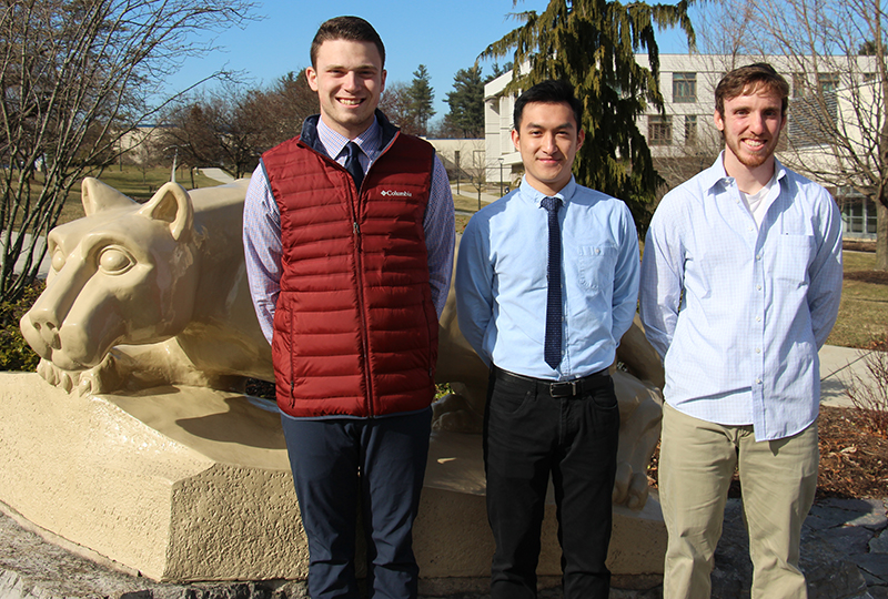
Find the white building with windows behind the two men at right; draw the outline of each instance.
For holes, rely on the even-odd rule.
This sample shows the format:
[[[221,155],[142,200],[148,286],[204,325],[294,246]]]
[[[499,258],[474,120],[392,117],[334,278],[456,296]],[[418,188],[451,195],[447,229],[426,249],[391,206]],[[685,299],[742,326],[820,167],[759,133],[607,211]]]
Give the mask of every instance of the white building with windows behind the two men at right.
[[[715,87],[727,71],[758,60],[761,59],[743,55],[660,54],[664,112],[650,108],[637,123],[655,160],[664,163],[669,159],[693,159],[694,169],[708,166],[722,148],[720,133],[713,122]],[[821,57],[817,69],[809,60],[795,63],[788,57],[766,60],[787,78],[791,88],[790,118],[778,152],[784,162],[818,164],[823,172],[835,169],[831,165],[838,159],[825,140],[818,140],[823,134],[818,135],[817,126],[813,125],[810,115],[818,111],[826,111],[834,122],[842,123],[850,131],[846,135],[859,139],[861,146],[871,143],[867,140],[868,132],[879,131],[884,111],[874,108],[869,111],[872,122],[860,123],[857,115],[861,111],[855,109],[861,98],[866,102],[867,93],[861,93],[861,88],[874,85],[875,59]],[[647,54],[637,54],[636,61],[649,68]],[[503,94],[511,80],[509,71],[484,87],[487,181],[500,181],[502,169],[506,184],[516,182],[524,170],[511,139],[514,97]],[[876,104],[875,100],[870,103]],[[826,181],[821,182],[829,187]],[[876,209],[871,201],[850,187],[830,191],[842,206],[846,235],[875,238]]]

